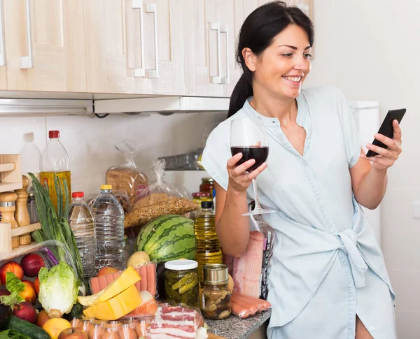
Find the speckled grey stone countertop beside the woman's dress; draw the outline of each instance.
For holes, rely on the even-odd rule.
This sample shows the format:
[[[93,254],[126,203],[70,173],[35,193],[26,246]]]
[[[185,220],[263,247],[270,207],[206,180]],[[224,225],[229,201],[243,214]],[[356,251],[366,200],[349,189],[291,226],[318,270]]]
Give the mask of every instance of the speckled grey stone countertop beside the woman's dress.
[[[208,332],[214,333],[227,339],[246,339],[252,333],[265,323],[270,317],[271,310],[267,310],[260,314],[253,315],[246,319],[241,319],[235,315],[231,315],[224,320],[209,320],[206,319],[206,324],[209,326]]]

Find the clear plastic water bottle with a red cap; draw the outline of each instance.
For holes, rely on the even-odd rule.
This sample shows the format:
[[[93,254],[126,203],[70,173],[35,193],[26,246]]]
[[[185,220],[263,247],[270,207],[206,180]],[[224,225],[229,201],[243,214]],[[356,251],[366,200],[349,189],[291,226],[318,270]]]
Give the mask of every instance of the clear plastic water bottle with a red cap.
[[[96,234],[92,211],[83,200],[83,192],[71,194],[69,225],[76,238],[76,244],[82,259],[83,277],[88,280],[95,275],[94,258],[96,254]]]

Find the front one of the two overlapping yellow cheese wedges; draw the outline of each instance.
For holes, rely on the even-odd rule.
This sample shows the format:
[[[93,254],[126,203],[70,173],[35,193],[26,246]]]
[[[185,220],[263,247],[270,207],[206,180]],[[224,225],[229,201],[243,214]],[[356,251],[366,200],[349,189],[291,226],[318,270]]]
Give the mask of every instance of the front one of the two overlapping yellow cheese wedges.
[[[104,303],[91,306],[84,310],[83,313],[88,318],[116,320],[120,317],[124,317],[140,304],[141,296],[133,284],[117,296],[114,296]]]

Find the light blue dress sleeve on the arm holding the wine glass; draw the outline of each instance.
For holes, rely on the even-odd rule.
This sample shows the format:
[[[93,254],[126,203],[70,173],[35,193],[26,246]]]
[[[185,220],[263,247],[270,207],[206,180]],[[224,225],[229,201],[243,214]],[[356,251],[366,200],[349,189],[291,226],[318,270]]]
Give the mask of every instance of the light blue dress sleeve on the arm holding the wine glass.
[[[221,185],[228,190],[229,175],[226,165],[232,157],[230,153],[230,131],[226,130],[226,123],[222,122],[207,138],[206,147],[202,155],[202,166]]]

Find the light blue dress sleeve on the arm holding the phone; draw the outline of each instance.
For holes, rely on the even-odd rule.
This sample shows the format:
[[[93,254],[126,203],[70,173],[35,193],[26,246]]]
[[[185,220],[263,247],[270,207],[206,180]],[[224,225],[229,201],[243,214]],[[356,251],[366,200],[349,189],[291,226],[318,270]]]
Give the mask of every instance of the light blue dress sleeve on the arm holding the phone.
[[[342,94],[342,92],[340,92],[338,89],[337,110],[339,114],[339,120],[342,125],[347,163],[349,164],[349,168],[351,168],[356,165],[358,159],[360,158],[361,145],[351,106],[344,97],[344,94]]]

